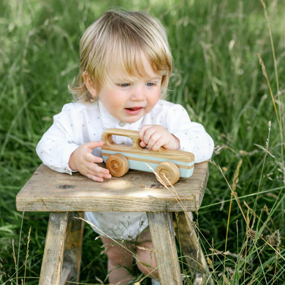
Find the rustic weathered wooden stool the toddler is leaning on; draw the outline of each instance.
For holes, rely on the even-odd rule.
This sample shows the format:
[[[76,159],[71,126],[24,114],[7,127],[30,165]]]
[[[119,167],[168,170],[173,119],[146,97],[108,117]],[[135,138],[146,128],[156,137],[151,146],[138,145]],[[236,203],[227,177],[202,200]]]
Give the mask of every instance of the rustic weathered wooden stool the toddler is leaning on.
[[[79,172],[71,176],[41,164],[16,197],[18,211],[50,212],[39,284],[63,285],[75,276],[79,282],[84,222],[73,217],[83,217],[84,211],[145,211],[153,248],[164,253],[154,253],[161,285],[182,285],[174,229],[183,255],[191,257],[186,257],[190,270],[200,272],[196,282],[203,282],[207,262],[202,251],[197,262],[197,235],[184,211],[193,217],[191,211],[199,209],[208,176],[208,162],[195,164],[193,175],[174,185],[178,198],[150,172],[130,170],[99,183]],[[173,218],[172,212],[178,214]]]

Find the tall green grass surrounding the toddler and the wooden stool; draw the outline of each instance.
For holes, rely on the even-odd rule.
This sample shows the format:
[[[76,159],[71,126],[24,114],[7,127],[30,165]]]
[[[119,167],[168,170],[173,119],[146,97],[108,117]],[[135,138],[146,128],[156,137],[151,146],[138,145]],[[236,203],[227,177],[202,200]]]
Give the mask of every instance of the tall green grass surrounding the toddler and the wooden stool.
[[[18,258],[19,284],[21,278],[38,283],[48,213],[23,215],[15,197],[41,163],[35,148],[52,116],[70,101],[80,34],[114,5],[147,10],[162,21],[174,58],[169,100],[185,106],[215,142],[202,207],[194,214],[215,283],[284,284],[285,8],[276,0],[265,9],[260,1],[226,0],[0,2],[0,284],[15,274]],[[249,229],[258,233],[254,239]],[[266,243],[267,235],[275,245]],[[84,284],[107,275],[102,243],[94,239],[86,225]],[[133,274],[140,276],[136,267]]]

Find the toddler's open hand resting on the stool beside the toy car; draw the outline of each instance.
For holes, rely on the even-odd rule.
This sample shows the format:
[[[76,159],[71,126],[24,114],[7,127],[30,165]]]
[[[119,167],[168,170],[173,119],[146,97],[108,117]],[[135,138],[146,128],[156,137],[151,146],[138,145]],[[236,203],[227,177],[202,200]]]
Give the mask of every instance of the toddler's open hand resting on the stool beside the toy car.
[[[91,154],[93,148],[101,147],[103,144],[104,142],[91,141],[76,148],[76,150],[74,150],[70,155],[68,162],[69,167],[72,170],[78,170],[81,174],[94,181],[103,182],[103,177],[111,178],[112,176],[109,174],[108,169],[105,169],[95,163],[103,162],[103,158]]]

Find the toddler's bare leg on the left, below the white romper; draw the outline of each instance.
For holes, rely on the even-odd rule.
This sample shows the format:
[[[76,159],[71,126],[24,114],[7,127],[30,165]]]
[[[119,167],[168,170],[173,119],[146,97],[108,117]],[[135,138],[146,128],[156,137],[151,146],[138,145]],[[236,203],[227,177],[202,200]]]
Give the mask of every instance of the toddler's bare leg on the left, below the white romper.
[[[108,243],[115,243],[112,239],[109,239],[108,237],[101,237],[101,239],[104,245]],[[116,284],[120,282],[120,285],[128,285],[128,282],[133,278],[129,271],[124,267],[119,267],[117,269],[114,268],[122,265],[129,269],[132,269],[132,261],[134,258],[133,254],[118,244],[114,246],[105,245],[105,249],[108,256],[108,272],[112,270],[109,274],[109,283]]]

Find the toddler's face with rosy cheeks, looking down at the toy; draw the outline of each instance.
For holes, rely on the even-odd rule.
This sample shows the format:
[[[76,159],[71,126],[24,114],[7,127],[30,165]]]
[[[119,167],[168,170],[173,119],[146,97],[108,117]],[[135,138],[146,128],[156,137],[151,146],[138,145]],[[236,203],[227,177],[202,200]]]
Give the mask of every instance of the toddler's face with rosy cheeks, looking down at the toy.
[[[159,99],[162,77],[154,73],[145,57],[143,62],[149,78],[140,78],[136,82],[117,82],[115,80],[112,82],[113,91],[102,87],[97,94],[105,109],[120,121],[126,123],[138,121],[152,110]],[[139,109],[128,110],[128,108],[135,107]]]

